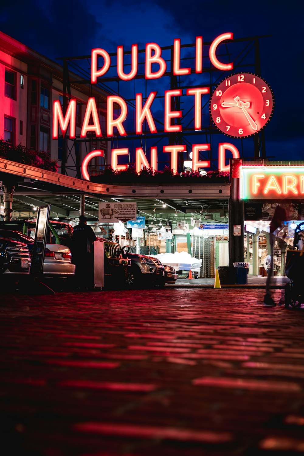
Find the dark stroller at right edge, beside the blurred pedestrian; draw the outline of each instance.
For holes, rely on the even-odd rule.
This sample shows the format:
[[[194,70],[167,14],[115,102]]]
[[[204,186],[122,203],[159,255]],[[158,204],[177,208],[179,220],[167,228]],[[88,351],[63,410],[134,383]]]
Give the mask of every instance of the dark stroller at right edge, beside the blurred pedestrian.
[[[285,275],[290,279],[290,283],[285,285],[286,308],[299,307],[304,302],[303,269],[304,222],[294,230],[294,250],[288,250],[286,255]]]

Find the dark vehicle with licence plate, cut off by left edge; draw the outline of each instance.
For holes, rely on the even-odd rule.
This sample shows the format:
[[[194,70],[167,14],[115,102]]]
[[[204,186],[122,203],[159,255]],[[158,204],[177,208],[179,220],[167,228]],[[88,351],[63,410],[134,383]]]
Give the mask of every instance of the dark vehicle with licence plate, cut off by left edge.
[[[10,288],[11,283],[28,277],[31,256],[27,245],[4,237],[0,238],[0,280]]]

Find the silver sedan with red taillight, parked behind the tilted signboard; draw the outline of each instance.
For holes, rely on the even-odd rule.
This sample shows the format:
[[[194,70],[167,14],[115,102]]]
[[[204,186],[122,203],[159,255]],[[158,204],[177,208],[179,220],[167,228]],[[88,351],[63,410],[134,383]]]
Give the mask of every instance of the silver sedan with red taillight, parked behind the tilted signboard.
[[[22,242],[27,245],[30,255],[34,248],[34,239],[19,231],[0,229],[2,238]],[[75,274],[75,264],[71,263],[70,249],[61,244],[46,244],[43,259],[42,275],[44,279],[68,280]]]

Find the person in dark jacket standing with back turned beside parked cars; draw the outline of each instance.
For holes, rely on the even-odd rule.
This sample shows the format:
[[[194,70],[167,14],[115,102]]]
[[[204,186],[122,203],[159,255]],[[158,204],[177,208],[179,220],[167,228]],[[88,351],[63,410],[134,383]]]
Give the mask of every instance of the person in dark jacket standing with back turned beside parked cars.
[[[79,224],[73,230],[72,263],[76,265],[76,288],[82,291],[94,288],[94,241],[93,229],[87,225],[87,218],[79,216]]]

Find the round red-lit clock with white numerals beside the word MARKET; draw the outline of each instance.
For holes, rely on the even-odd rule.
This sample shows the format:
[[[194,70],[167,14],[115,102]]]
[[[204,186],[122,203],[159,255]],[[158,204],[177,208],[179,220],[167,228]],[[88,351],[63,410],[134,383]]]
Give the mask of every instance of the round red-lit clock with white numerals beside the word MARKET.
[[[273,91],[252,73],[237,73],[224,79],[210,101],[216,127],[233,138],[255,135],[269,122],[274,109]]]

